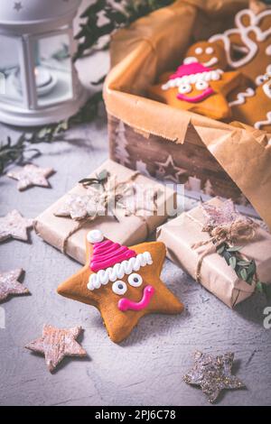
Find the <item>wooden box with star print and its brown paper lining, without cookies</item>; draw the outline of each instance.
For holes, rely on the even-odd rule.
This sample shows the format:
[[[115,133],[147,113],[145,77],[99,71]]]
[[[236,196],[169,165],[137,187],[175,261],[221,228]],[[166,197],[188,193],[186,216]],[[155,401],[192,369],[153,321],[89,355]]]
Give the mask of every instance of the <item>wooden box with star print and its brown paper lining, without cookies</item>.
[[[248,5],[179,0],[114,34],[104,86],[110,156],[207,194],[238,200],[242,192],[271,227],[270,134],[146,98],[147,88],[180,65],[192,42],[232,27],[235,14]]]

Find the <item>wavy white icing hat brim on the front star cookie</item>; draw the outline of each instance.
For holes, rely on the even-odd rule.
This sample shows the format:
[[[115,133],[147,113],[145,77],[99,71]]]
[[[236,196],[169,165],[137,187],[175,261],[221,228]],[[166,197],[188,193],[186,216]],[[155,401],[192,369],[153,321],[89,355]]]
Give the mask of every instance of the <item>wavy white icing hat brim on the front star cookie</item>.
[[[99,270],[89,276],[88,289],[99,289],[101,284],[107,284],[108,281],[122,279],[133,271],[139,271],[141,266],[151,265],[153,263],[152,255],[149,252],[138,253],[134,258],[122,263],[116,263],[113,267],[106,270]]]

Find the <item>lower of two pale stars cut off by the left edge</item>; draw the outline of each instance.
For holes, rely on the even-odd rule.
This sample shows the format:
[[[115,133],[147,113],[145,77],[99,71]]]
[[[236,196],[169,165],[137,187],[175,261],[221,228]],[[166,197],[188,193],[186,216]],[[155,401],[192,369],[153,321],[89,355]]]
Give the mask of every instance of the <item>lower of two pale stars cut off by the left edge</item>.
[[[18,281],[22,272],[22,268],[18,268],[13,271],[0,273],[0,302],[6,300],[11,295],[29,293],[29,290],[23,287],[23,284]]]

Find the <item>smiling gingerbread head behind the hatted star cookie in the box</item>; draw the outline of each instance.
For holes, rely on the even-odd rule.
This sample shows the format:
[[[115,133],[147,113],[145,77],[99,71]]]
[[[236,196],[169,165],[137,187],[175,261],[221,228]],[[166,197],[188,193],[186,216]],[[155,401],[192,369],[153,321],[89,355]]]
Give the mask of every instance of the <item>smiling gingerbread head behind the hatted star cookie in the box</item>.
[[[200,62],[203,66],[212,69],[225,70],[228,66],[226,52],[218,42],[198,41],[188,49],[183,63]]]

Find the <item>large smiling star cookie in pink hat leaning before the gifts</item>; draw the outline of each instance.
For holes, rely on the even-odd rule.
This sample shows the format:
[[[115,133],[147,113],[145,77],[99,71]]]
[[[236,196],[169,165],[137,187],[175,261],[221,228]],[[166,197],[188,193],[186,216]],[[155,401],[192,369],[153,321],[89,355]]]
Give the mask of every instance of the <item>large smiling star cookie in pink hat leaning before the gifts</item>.
[[[99,230],[92,230],[86,245],[85,266],[64,281],[58,293],[98,308],[113,342],[129,336],[146,314],[182,312],[182,303],[160,279],[165,257],[163,243],[128,248],[108,240]]]

